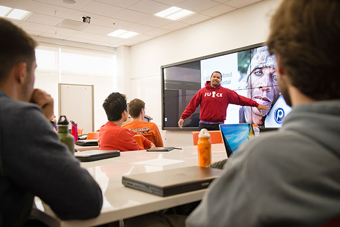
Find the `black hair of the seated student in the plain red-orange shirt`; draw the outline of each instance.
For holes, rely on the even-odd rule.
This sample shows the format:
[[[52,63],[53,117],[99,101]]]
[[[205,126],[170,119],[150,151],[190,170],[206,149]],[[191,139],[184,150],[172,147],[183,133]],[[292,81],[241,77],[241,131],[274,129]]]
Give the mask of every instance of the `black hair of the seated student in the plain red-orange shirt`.
[[[118,92],[111,93],[103,103],[103,108],[109,122],[121,120],[122,113],[127,107],[126,96]]]

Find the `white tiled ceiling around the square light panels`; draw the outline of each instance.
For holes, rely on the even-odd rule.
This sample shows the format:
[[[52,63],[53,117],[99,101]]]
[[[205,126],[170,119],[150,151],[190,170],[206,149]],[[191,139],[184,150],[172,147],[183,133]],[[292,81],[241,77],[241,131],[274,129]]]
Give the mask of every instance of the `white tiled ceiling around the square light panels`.
[[[135,45],[262,0],[75,1],[76,4],[68,5],[62,0],[0,0],[0,5],[32,12],[24,21],[11,19],[31,35],[118,47]],[[172,6],[195,14],[177,21],[153,16]],[[83,24],[83,16],[91,17],[91,23]],[[75,22],[73,29],[66,27],[67,22]],[[129,39],[107,36],[117,29],[140,34]]]

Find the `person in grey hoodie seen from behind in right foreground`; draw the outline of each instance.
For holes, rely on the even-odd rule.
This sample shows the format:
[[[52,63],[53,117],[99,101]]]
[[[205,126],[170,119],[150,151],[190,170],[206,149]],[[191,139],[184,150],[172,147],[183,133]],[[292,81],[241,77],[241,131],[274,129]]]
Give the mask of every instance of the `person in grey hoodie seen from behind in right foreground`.
[[[270,28],[293,109],[226,162],[189,227],[318,226],[340,216],[340,1],[285,0]]]

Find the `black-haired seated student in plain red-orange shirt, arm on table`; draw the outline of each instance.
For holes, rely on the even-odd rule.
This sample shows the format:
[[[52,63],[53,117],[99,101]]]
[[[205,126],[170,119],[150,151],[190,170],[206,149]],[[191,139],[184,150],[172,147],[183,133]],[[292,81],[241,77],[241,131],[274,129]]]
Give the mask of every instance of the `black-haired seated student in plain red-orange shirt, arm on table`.
[[[127,107],[125,95],[118,92],[111,93],[105,99],[103,108],[105,109],[108,122],[100,127],[100,150],[144,150],[133,139],[136,133],[121,127],[129,115],[129,107]],[[155,145],[144,136],[142,136],[142,141],[146,149],[155,147]]]

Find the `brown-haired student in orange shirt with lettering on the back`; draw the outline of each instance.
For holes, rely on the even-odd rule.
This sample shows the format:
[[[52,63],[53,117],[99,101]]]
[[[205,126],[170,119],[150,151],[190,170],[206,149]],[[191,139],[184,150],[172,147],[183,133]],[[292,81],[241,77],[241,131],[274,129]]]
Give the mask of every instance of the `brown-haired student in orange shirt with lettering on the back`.
[[[135,133],[146,136],[156,147],[163,146],[163,140],[160,136],[158,127],[153,122],[143,121],[145,116],[145,102],[135,98],[129,102],[129,113],[131,116],[131,122],[123,125],[123,128],[131,129]]]

